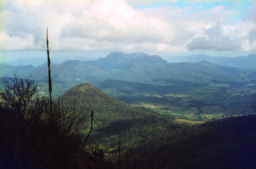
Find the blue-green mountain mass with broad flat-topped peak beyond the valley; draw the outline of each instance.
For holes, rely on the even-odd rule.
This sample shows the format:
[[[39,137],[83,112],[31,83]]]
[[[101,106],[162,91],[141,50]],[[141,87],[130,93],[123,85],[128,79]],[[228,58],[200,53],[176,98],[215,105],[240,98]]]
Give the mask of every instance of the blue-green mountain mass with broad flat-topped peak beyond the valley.
[[[47,64],[33,67],[0,65],[3,75],[32,74],[37,80],[48,79]],[[90,81],[96,79],[118,79],[149,84],[169,84],[170,81],[189,81],[207,83],[209,81],[244,81],[255,79],[251,69],[224,67],[208,61],[198,63],[169,63],[160,56],[146,53],[110,53],[99,60],[68,60],[61,65],[51,65],[52,78],[55,80]],[[255,72],[254,72],[255,73]]]

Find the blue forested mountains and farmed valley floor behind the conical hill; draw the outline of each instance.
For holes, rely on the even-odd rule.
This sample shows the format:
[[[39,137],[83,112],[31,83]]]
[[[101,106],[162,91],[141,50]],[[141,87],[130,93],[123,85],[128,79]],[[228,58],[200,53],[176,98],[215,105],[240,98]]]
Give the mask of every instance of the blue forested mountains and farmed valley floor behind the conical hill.
[[[12,77],[17,71],[21,76],[32,75],[43,92],[48,93],[47,64],[38,67],[1,64],[0,69],[1,76]],[[256,108],[253,69],[224,67],[205,60],[168,63],[145,53],[110,53],[99,60],[51,64],[51,76],[54,98],[76,85],[91,83],[122,102],[165,106],[159,112],[185,119],[209,120],[219,113],[250,114]],[[205,113],[207,116],[203,116]]]

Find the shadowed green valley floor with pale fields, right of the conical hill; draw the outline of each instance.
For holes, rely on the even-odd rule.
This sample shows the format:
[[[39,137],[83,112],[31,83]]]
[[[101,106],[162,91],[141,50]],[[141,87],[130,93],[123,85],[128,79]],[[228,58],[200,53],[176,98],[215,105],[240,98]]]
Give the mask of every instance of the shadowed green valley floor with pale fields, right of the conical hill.
[[[136,106],[155,105],[153,109],[158,113],[175,115],[177,118],[206,121],[225,116],[255,114],[253,81],[211,81],[208,84],[184,85],[178,82],[164,86],[106,80],[97,86],[122,102]]]

